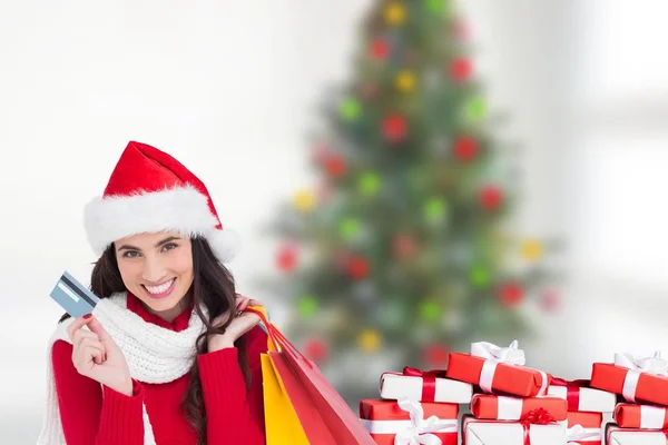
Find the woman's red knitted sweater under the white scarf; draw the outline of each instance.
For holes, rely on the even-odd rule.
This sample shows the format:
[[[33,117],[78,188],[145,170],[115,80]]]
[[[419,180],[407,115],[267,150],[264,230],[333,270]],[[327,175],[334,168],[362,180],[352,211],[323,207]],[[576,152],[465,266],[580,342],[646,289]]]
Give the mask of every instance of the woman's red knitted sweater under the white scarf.
[[[148,313],[129,293],[127,306],[146,322],[176,332],[188,327],[191,312],[185,310],[168,323]],[[252,375],[249,392],[246,392],[237,362],[237,348],[197,357],[208,421],[208,445],[265,444],[259,357],[267,349],[267,336],[259,326],[246,334],[246,345]],[[56,342],[52,353],[58,405],[68,445],[144,445],[143,404],[146,404],[157,444],[197,443],[195,431],[180,411],[190,373],[166,384],[134,380],[134,394],[126,396],[80,375],[72,364],[72,345],[69,343]]]

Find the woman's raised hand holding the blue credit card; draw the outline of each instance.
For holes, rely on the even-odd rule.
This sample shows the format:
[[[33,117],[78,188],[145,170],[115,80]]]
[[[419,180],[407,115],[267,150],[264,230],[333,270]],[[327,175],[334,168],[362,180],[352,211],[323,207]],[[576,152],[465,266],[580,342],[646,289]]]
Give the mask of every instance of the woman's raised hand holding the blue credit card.
[[[97,318],[90,314],[76,318],[67,334],[72,342],[72,363],[79,374],[118,393],[132,394],[132,378],[125,356]]]

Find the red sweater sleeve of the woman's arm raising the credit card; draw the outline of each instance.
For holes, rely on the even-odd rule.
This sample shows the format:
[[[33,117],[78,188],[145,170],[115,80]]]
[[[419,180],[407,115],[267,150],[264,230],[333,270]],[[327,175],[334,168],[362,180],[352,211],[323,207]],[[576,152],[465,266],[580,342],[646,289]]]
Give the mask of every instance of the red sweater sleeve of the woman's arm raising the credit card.
[[[134,380],[132,395],[126,396],[79,374],[71,357],[72,345],[53,344],[51,360],[67,444],[143,445],[143,385]]]

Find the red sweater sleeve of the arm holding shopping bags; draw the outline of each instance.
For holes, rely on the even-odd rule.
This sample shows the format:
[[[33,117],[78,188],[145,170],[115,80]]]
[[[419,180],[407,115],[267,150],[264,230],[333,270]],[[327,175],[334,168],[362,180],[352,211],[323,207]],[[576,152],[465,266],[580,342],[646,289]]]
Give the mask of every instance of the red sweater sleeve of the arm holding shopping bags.
[[[248,390],[238,364],[237,348],[225,348],[197,357],[209,445],[265,444],[261,353],[266,352],[266,334],[255,327],[246,335],[252,378]]]

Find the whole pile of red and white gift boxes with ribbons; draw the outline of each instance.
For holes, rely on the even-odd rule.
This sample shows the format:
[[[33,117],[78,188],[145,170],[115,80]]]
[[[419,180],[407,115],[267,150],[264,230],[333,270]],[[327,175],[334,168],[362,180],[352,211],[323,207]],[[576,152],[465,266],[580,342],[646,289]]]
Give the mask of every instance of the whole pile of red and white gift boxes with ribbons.
[[[667,374],[658,356],[617,354],[567,382],[524,366],[517,342],[481,342],[448,369],[384,373],[360,417],[381,445],[668,445]]]

